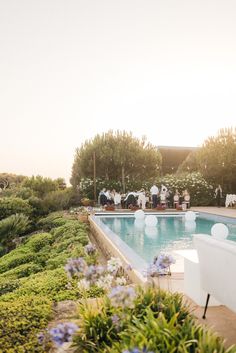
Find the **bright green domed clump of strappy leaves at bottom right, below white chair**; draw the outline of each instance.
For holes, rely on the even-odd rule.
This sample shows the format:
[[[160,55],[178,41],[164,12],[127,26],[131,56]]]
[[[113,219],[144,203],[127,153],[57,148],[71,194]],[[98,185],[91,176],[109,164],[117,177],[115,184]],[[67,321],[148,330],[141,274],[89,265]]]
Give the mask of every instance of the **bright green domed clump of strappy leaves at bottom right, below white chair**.
[[[223,339],[196,324],[195,320],[187,317],[182,324],[178,322],[178,313],[168,320],[163,313],[158,317],[150,308],[146,312],[144,321],[137,318],[119,334],[119,342],[114,343],[109,353],[119,353],[134,347],[152,352],[207,352],[223,353],[235,352],[235,348],[226,350]]]

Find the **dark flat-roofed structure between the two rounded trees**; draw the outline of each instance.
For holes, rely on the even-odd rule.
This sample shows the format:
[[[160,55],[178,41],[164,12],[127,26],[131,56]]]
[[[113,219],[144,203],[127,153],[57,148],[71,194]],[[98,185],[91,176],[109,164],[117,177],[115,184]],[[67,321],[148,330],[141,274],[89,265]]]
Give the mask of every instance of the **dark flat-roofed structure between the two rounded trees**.
[[[173,174],[187,156],[198,147],[158,146],[162,155],[162,174]]]

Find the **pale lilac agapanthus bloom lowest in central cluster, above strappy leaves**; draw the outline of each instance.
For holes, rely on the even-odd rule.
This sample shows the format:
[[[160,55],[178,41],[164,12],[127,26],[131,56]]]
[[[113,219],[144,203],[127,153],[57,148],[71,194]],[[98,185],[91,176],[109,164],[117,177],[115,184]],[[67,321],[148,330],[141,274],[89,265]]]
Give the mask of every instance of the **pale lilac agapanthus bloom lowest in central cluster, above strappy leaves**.
[[[117,286],[112,288],[108,297],[111,304],[115,307],[133,307],[133,302],[136,297],[136,292],[132,287]]]

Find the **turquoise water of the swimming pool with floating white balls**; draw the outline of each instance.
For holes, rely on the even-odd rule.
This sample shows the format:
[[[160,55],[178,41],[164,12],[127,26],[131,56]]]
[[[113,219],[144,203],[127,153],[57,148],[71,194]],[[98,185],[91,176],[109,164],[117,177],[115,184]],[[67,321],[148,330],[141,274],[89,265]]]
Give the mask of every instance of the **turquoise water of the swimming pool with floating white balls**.
[[[211,234],[215,223],[224,223],[229,228],[227,239],[236,242],[236,222],[222,222],[197,217],[196,222],[185,222],[184,217],[158,216],[156,227],[148,228],[134,217],[101,217],[100,220],[116,233],[131,249],[147,263],[160,251],[172,252],[193,248],[193,234]]]

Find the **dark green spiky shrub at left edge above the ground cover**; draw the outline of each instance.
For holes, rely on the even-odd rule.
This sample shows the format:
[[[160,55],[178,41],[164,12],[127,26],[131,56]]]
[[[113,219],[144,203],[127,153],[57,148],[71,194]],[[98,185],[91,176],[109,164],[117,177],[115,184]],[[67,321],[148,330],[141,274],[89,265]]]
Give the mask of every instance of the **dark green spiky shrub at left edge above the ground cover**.
[[[23,214],[15,214],[0,221],[0,244],[6,251],[16,245],[16,239],[26,233],[29,228],[29,219]]]

